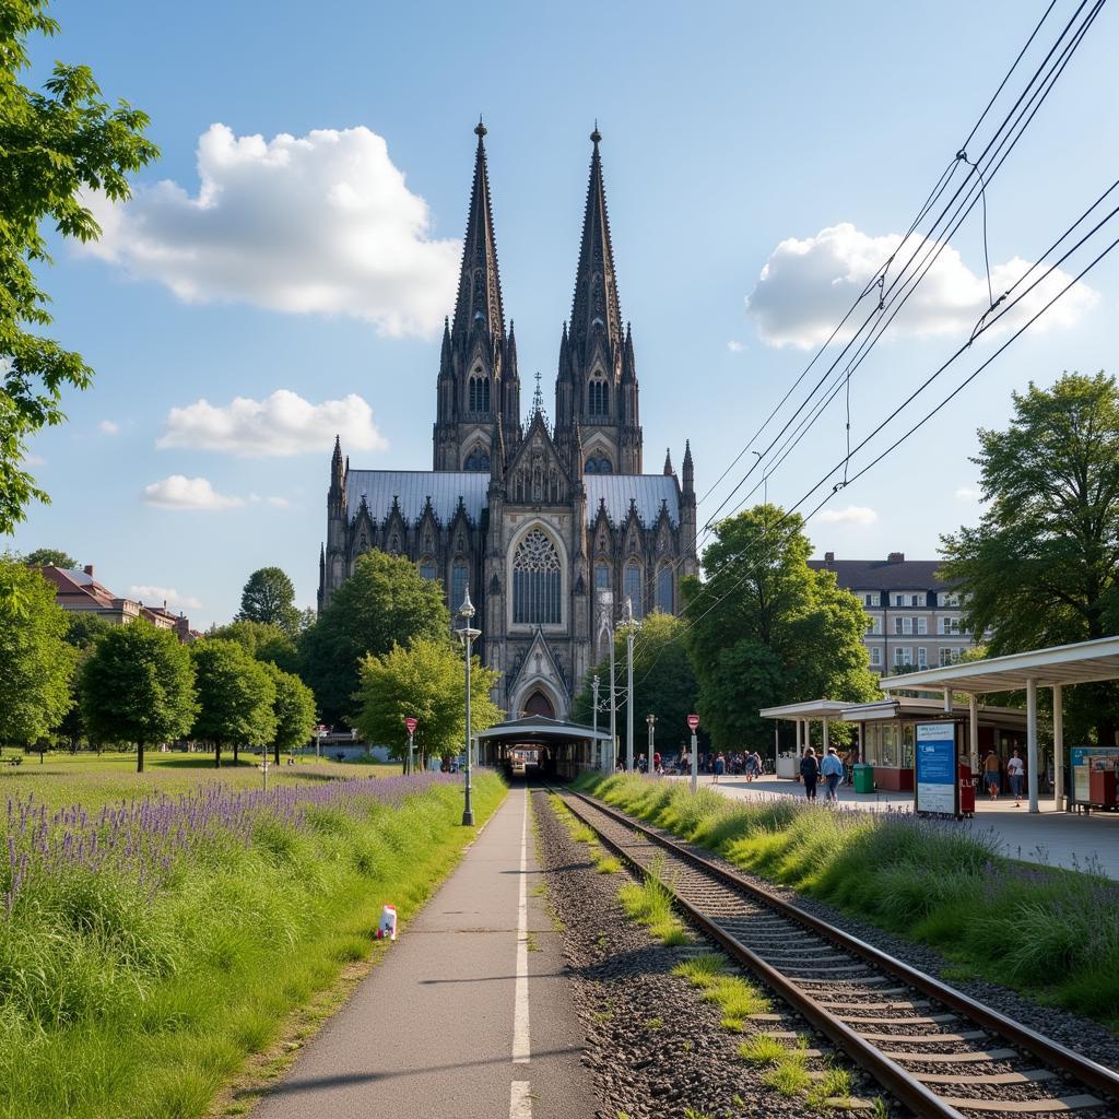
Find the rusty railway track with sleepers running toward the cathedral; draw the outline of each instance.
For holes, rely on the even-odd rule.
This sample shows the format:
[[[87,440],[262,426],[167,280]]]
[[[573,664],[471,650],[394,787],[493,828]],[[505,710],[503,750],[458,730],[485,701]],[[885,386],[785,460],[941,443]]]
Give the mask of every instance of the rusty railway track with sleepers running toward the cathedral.
[[[601,801],[552,790],[634,868],[916,1115],[1119,1117],[1119,1074]]]

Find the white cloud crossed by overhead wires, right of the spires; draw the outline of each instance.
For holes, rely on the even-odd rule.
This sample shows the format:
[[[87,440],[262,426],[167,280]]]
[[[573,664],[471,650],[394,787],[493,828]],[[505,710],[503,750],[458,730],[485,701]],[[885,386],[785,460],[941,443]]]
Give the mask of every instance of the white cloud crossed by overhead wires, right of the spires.
[[[746,314],[753,319],[762,340],[770,346],[802,349],[819,346],[877,275],[901,239],[897,234],[872,237],[849,222],[821,229],[814,237],[789,237],[773,250],[765,262],[761,278],[746,299]],[[894,263],[894,278],[908,260],[910,246],[915,247],[916,244],[918,241],[912,238],[906,243],[906,250]],[[996,264],[990,270],[995,298],[998,299],[1028,267],[1029,262],[1021,257]],[[890,279],[886,278],[887,285]],[[1071,279],[1069,273],[1055,270],[990,333],[1021,327]],[[873,310],[874,298],[872,292],[859,304],[847,327],[837,335],[839,341],[847,341],[854,335]],[[1031,330],[1072,327],[1098,301],[1098,292],[1084,283],[1076,283]],[[986,272],[972,272],[960,254],[948,245],[899,312],[885,337],[923,338],[953,333],[962,341],[988,305]]]

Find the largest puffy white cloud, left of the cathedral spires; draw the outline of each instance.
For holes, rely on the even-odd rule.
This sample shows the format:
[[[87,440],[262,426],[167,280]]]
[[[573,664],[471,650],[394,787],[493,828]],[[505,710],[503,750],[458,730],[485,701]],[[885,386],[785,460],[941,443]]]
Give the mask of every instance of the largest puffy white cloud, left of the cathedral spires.
[[[163,180],[123,205],[87,204],[103,235],[84,251],[186,302],[345,314],[383,335],[429,335],[454,301],[462,245],[433,239],[385,140],[366,128],[199,138],[196,195]]]

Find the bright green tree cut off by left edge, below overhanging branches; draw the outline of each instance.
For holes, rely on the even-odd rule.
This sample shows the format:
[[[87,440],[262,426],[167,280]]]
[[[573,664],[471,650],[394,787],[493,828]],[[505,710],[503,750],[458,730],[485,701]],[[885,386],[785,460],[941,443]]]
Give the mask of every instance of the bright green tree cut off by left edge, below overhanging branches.
[[[0,557],[0,743],[29,745],[63,721],[77,660],[66,630],[54,586]]]

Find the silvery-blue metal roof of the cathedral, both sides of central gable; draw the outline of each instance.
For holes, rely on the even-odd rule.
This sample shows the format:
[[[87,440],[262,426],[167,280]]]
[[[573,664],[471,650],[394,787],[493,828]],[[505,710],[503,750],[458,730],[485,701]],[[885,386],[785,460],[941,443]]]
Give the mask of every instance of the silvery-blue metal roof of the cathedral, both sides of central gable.
[[[354,516],[364,497],[373,517],[384,521],[396,498],[401,516],[415,524],[430,497],[435,516],[449,524],[461,497],[467,516],[478,524],[487,506],[489,483],[487,470],[350,470],[346,476],[346,504]],[[679,490],[670,476],[584,474],[583,486],[587,524],[594,523],[600,504],[605,502],[610,519],[620,525],[629,516],[631,500],[647,526],[660,516],[661,504],[668,508],[673,527],[680,523]]]

